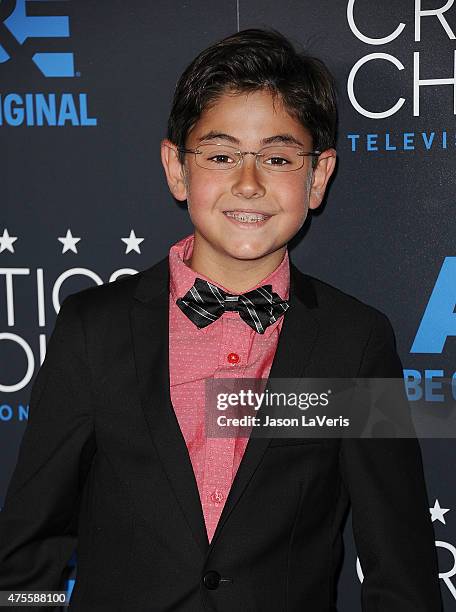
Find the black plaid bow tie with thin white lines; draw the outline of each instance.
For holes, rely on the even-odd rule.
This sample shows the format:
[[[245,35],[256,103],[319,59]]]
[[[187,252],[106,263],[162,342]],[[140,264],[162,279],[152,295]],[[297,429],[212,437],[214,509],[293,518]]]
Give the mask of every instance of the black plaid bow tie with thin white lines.
[[[264,334],[289,307],[286,300],[272,291],[272,285],[232,295],[202,278],[197,278],[176,304],[200,329],[216,321],[225,311],[237,310],[247,325],[259,334]]]

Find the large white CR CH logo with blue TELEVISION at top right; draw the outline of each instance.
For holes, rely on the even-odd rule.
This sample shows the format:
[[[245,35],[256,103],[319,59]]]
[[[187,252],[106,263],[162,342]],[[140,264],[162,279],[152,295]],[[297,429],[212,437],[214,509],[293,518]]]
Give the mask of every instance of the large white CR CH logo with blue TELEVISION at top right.
[[[408,10],[402,6],[405,4],[408,5]],[[359,49],[363,53],[348,74],[347,96],[359,115],[374,122],[371,124],[373,129],[369,132],[358,132],[355,128],[355,131],[346,134],[346,144],[354,154],[368,153],[382,159],[385,153],[395,155],[395,152],[401,151],[413,155],[416,151],[446,151],[455,146],[452,126],[456,115],[456,4],[455,0],[431,3],[439,5],[432,8],[424,4],[428,5],[429,2],[384,2],[385,11],[396,11],[397,14],[397,22],[385,28],[383,20],[375,19],[376,11],[371,10],[369,2],[347,1],[348,27],[359,41]],[[400,21],[400,17],[404,21]],[[430,28],[433,26],[437,30],[430,36]],[[407,44],[401,45],[398,56],[393,55],[392,49],[397,49],[397,42],[404,39]],[[369,51],[367,53],[366,45]],[[437,55],[440,45],[442,50]],[[448,51],[445,50],[447,47]],[[431,66],[430,58],[434,60]],[[391,75],[390,78],[396,81],[396,86],[389,92],[391,97],[387,97],[375,107],[372,102],[363,101],[363,98],[366,89],[372,91],[372,88],[383,82],[376,76],[380,69]],[[439,91],[452,92],[452,105],[442,106],[442,122],[445,121],[445,116],[449,115],[448,126],[439,122],[422,131],[419,123],[407,121],[405,131],[403,128],[397,129],[394,123],[383,123],[384,119],[389,119],[400,111],[399,116],[402,117],[410,112],[413,113],[413,118],[425,116],[432,108],[429,102],[425,101],[425,95],[432,95],[434,98],[431,99],[437,99]]]

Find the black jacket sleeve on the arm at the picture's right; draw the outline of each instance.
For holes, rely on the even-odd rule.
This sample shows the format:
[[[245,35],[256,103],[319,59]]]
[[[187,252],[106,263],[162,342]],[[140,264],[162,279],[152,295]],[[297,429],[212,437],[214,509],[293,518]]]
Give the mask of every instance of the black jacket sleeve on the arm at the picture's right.
[[[376,312],[359,378],[402,378],[394,333]],[[345,439],[340,469],[364,575],[363,612],[440,612],[435,536],[416,438]]]

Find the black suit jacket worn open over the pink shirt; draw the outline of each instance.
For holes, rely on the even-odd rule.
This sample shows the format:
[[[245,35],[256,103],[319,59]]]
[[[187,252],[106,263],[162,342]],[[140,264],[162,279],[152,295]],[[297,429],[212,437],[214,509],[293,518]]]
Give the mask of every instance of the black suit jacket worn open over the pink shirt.
[[[291,263],[270,378],[401,377],[388,319]],[[74,612],[334,612],[352,505],[364,612],[441,610],[415,439],[251,438],[209,545],[169,394],[168,258],[64,300],[0,514],[0,590]]]

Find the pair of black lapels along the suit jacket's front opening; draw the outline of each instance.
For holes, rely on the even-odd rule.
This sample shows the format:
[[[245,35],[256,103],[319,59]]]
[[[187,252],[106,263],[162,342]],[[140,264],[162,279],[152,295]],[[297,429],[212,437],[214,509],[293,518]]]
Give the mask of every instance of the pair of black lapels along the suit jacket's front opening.
[[[136,371],[153,443],[194,539],[206,554],[252,478],[270,438],[250,438],[209,545],[193,467],[170,398],[168,283],[168,257],[143,272],[139,279],[131,310]],[[312,284],[291,262],[289,302],[270,379],[300,378],[318,334],[318,324],[311,313],[316,306]]]

